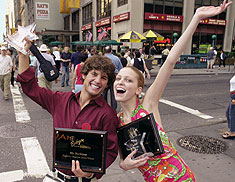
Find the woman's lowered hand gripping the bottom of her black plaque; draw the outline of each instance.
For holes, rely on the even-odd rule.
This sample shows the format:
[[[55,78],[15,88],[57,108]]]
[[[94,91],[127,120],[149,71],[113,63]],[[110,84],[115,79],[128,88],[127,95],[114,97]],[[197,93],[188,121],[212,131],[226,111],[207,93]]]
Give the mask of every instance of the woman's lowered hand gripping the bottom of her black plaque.
[[[134,150],[125,158],[125,160],[121,159],[119,163],[120,168],[122,168],[123,170],[130,170],[130,169],[140,167],[147,162],[149,157],[143,156],[143,157],[140,157],[139,159],[134,159],[134,160],[131,159],[136,154],[136,152],[137,150]]]

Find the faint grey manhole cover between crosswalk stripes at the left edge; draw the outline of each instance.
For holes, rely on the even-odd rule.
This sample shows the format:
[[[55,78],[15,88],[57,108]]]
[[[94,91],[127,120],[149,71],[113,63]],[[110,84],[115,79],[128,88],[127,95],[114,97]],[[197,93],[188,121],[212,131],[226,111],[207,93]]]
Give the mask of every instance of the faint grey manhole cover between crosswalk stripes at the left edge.
[[[2,138],[21,138],[32,135],[35,129],[25,124],[12,124],[0,127],[0,137]]]

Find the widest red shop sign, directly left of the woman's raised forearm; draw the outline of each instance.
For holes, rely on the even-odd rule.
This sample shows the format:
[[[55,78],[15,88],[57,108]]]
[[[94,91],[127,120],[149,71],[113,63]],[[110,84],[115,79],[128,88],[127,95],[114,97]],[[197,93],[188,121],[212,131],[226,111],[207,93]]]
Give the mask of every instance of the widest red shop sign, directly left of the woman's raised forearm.
[[[144,19],[145,20],[183,22],[182,15],[168,15],[168,14],[157,14],[157,13],[145,13]]]

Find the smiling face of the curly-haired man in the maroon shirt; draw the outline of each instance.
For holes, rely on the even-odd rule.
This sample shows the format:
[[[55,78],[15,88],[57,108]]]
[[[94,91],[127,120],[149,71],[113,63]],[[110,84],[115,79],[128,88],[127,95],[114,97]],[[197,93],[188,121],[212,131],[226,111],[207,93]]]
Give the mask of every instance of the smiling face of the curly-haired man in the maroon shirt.
[[[90,95],[90,97],[99,97],[108,84],[108,75],[99,70],[91,70],[83,77],[83,89]]]

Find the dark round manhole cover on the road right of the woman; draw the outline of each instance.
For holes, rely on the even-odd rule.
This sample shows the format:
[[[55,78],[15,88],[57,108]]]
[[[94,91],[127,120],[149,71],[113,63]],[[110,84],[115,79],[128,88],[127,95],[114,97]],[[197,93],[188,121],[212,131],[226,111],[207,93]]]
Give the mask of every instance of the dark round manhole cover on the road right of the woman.
[[[227,149],[225,142],[199,135],[181,137],[177,140],[177,143],[186,150],[204,154],[219,154]]]

